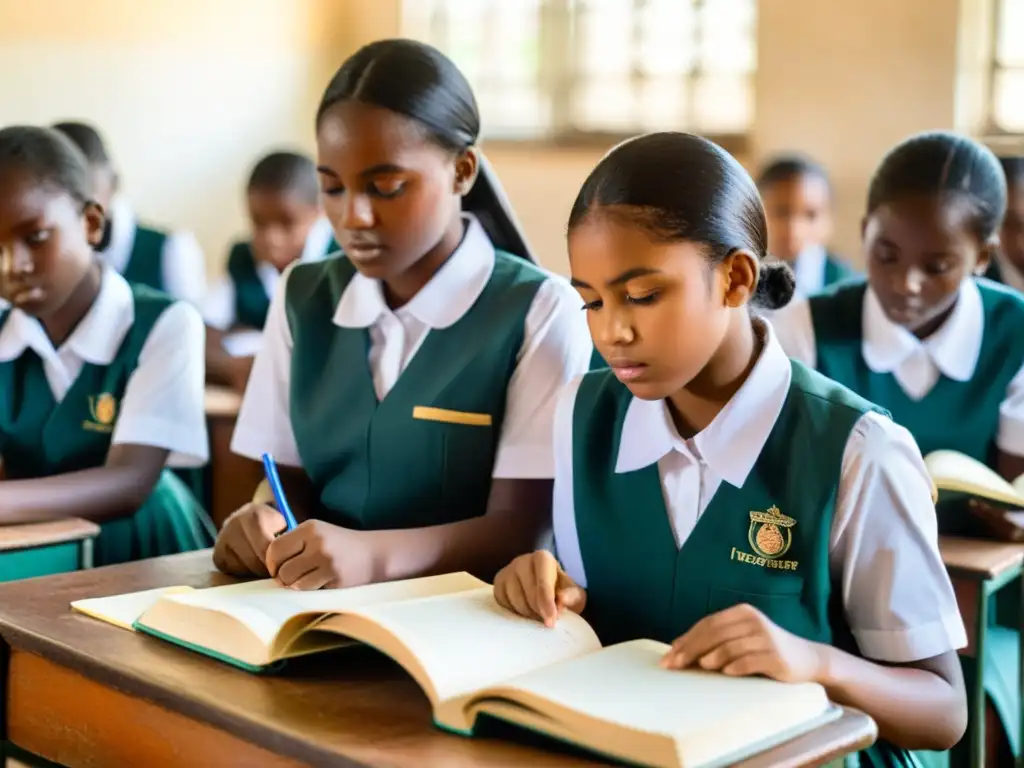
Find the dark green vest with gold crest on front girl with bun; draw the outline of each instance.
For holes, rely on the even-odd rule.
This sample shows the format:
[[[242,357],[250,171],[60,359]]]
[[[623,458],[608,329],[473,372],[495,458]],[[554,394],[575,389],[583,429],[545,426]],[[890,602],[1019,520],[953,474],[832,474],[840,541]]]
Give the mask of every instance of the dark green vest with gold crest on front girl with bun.
[[[856,653],[828,541],[850,430],[864,413],[884,412],[792,365],[790,393],[743,486],[723,482],[678,549],[657,465],[615,472],[632,394],[611,372],[584,377],[572,417],[572,490],[586,613],[602,642],[672,642],[745,602],[796,635]],[[887,742],[859,757],[861,765],[913,765]]]

